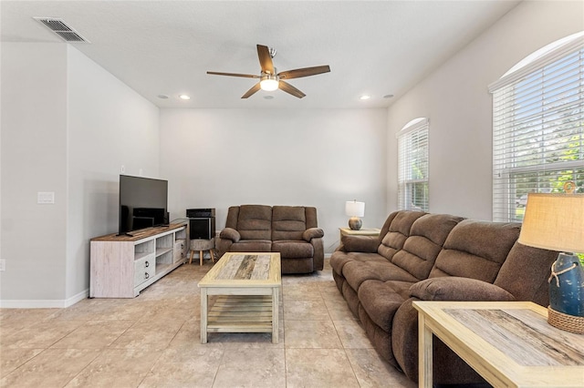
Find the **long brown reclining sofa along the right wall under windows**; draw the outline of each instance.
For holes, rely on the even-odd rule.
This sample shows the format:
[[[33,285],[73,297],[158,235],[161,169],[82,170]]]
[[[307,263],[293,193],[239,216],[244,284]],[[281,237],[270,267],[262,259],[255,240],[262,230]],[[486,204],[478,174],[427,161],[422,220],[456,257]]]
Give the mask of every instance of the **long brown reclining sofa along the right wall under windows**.
[[[379,238],[344,236],[333,278],[382,358],[418,380],[412,301],[534,301],[547,306],[558,252],[516,242],[520,224],[396,211]],[[436,384],[484,383],[443,342],[433,342]]]

